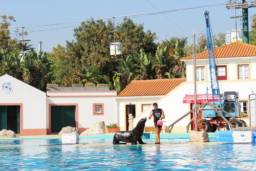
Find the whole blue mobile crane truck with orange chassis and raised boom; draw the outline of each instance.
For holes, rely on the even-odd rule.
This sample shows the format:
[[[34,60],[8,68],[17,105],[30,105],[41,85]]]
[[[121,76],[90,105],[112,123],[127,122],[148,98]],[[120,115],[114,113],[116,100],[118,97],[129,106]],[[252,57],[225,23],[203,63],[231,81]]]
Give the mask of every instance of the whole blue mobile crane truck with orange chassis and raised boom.
[[[242,126],[242,123],[245,123],[244,121],[237,119],[241,117],[239,93],[235,91],[224,92],[223,97],[220,94],[218,72],[216,67],[214,48],[212,46],[211,39],[209,12],[204,11],[204,16],[206,22],[206,41],[209,58],[212,103],[218,106],[219,109],[223,109],[230,115],[223,112],[222,110],[219,110],[219,113],[221,113],[222,116],[226,118],[223,119],[223,117],[221,117],[220,114],[218,114],[214,109],[212,109],[210,105],[206,105],[202,109],[202,116],[204,119],[202,119],[202,126],[200,130],[205,132],[215,132],[217,130],[217,127],[223,128],[224,126],[226,126],[227,130],[230,130],[227,120],[232,125],[232,127]]]

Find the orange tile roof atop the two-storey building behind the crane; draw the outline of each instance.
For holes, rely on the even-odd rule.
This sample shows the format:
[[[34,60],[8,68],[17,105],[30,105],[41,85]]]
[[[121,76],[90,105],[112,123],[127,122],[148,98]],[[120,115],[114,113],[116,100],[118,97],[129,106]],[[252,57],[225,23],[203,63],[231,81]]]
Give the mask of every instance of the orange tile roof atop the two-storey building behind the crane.
[[[256,56],[256,46],[237,41],[229,45],[214,49],[215,58],[232,58]],[[193,55],[182,58],[183,60],[193,59]],[[198,53],[196,59],[208,59],[208,51]]]

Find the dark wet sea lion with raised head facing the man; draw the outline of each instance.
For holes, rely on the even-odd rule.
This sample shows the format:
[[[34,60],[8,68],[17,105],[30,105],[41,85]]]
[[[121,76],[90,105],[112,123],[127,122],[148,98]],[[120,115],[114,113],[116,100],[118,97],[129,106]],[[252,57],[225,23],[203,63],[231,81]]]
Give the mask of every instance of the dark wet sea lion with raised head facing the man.
[[[136,127],[132,131],[117,132],[113,138],[113,145],[123,144],[123,143],[119,143],[119,141],[131,142],[132,145],[137,145],[137,141],[139,142],[139,144],[145,144],[141,139],[144,132],[145,122],[146,122],[146,117],[143,119],[140,119]]]

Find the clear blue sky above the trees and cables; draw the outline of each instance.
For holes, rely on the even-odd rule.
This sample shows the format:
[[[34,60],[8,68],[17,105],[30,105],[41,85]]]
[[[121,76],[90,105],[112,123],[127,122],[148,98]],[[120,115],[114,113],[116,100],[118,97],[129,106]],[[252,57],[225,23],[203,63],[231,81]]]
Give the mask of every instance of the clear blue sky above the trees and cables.
[[[144,12],[154,12],[162,10],[172,10],[177,8],[198,6],[216,2],[227,1],[177,1],[177,0],[140,0],[140,1],[88,1],[88,0],[0,0],[0,14],[12,15],[16,22],[12,23],[10,28],[41,26],[57,23],[69,23],[80,20],[87,20],[90,17],[107,18],[113,16],[123,16],[130,14],[138,14]],[[158,40],[162,41],[170,37],[189,37],[188,44],[192,44],[192,31],[196,30],[197,37],[202,31],[205,32],[205,19],[203,11],[210,12],[211,28],[213,34],[225,33],[228,30],[235,29],[235,19],[230,16],[235,15],[234,10],[228,10],[225,5],[205,7],[189,10],[180,10],[158,15],[149,15],[143,17],[133,17],[135,23],[143,24],[144,30],[150,29],[156,32]],[[239,15],[237,9],[237,15]],[[256,13],[256,8],[249,8],[249,30],[251,29],[250,17]],[[116,19],[115,23],[122,22],[122,19]],[[30,32],[24,39],[30,39],[30,44],[37,50],[38,41],[42,41],[43,51],[52,51],[53,47],[58,44],[66,46],[66,40],[73,40],[73,29],[78,27],[80,23],[25,28]],[[239,19],[237,26],[240,27]],[[54,29],[60,27],[68,27],[63,29]],[[54,29],[47,31],[38,31],[45,29]],[[22,31],[22,30],[20,30]],[[35,32],[32,32],[35,31]],[[13,33],[14,30],[11,30]],[[22,37],[19,37],[21,40]],[[113,40],[110,40],[110,42]]]

